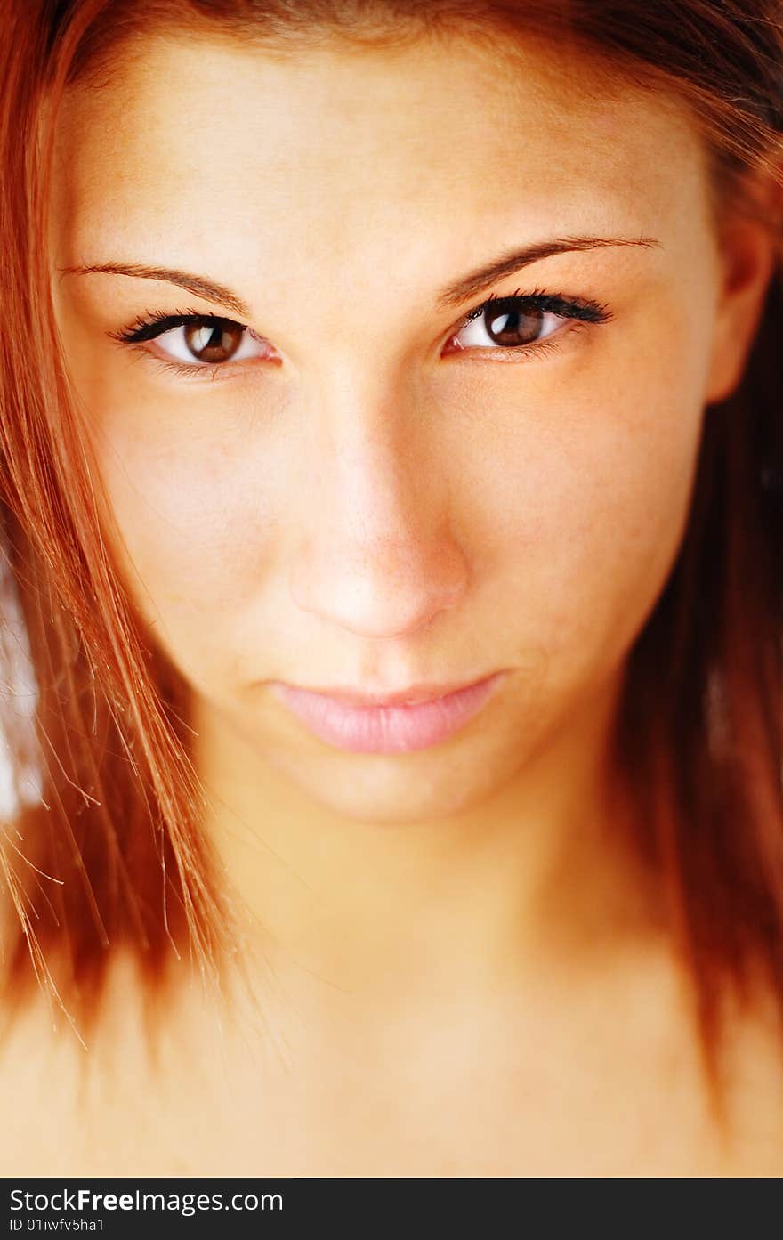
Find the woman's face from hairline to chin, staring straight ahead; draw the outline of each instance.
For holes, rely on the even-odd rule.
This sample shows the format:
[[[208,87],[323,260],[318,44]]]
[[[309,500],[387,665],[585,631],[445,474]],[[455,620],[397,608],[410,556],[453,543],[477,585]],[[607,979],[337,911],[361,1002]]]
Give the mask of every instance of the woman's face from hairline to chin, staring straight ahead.
[[[678,105],[605,97],[533,42],[150,37],[68,100],[53,262],[123,572],[249,763],[415,820],[600,712],[752,327]],[[63,274],[112,264],[135,274]],[[468,321],[534,294],[555,300]],[[183,314],[230,322],[151,336]],[[478,715],[411,751],[341,748],[271,688],[498,671]]]

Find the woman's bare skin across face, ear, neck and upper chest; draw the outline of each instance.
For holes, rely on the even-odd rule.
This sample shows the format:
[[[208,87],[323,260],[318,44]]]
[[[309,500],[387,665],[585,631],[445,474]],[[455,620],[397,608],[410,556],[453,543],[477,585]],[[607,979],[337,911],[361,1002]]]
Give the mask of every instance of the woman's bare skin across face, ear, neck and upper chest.
[[[57,1137],[35,1154],[31,1132],[20,1169],[783,1171],[761,1024],[737,1030],[719,1149],[608,749],[772,272],[763,229],[719,234],[712,206],[681,103],[533,40],[271,56],[150,35],[69,97],[57,314],[118,560],[195,693],[254,996],[228,1017],[183,991],[152,1085],[118,982],[112,1089],[50,1091]],[[574,238],[605,244],[439,300]],[[138,274],[76,270],[113,264]],[[550,316],[549,347],[517,353],[465,325],[534,290],[611,316]],[[113,339],[147,311],[252,335],[197,373],[182,329]],[[481,715],[414,754],[339,751],[269,688],[498,670]],[[37,1037],[68,1080],[83,1052]]]

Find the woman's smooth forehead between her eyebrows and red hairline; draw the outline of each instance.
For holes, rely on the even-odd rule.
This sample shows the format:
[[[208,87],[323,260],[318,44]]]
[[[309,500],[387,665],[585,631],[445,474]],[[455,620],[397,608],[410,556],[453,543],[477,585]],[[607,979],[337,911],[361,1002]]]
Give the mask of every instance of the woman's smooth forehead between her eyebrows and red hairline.
[[[704,181],[679,102],[610,92],[588,60],[538,40],[271,56],[147,36],[99,89],[71,93],[57,153],[64,262],[204,270],[219,255],[238,283],[256,257],[274,273],[280,255],[349,254],[356,275],[383,252],[413,273],[442,244],[470,265],[478,227],[665,233]]]

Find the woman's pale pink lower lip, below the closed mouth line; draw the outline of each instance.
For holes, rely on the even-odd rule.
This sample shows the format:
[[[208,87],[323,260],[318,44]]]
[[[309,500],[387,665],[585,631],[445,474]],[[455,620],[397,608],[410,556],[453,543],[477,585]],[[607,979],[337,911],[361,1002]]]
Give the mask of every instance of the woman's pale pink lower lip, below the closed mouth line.
[[[446,697],[415,706],[348,706],[322,693],[275,682],[271,688],[321,740],[353,754],[408,754],[429,749],[472,719],[494,692],[502,673]]]

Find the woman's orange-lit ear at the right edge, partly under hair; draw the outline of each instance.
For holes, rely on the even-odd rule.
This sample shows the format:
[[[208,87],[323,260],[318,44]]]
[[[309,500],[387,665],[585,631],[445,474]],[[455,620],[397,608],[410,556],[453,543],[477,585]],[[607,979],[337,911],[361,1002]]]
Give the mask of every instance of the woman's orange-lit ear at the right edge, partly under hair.
[[[706,403],[730,397],[740,384],[779,260],[783,186],[757,187],[761,210],[725,221],[720,228],[721,288]],[[778,228],[774,227],[778,222]],[[771,226],[772,224],[772,226]]]

